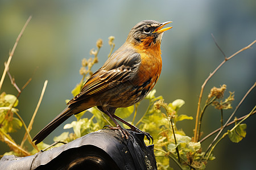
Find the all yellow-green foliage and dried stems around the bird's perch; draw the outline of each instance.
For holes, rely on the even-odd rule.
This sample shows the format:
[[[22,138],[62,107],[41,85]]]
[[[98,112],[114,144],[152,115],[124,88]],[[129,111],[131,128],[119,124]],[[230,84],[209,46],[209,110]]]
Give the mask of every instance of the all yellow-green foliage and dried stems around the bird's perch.
[[[29,22],[29,20],[27,21],[27,23]],[[27,23],[25,24],[24,28],[26,28]],[[20,36],[24,31],[24,28],[22,29],[22,32],[20,32],[20,35],[18,36],[13,52],[15,50],[16,44],[18,43]],[[225,57],[224,61],[205,80],[203,86],[201,87],[201,92],[199,96],[199,103],[196,113],[196,124],[194,130],[195,134],[193,137],[189,137],[181,128],[176,126],[176,123],[179,121],[193,120],[193,117],[179,113],[180,108],[185,104],[185,102],[181,99],[177,99],[175,101],[172,101],[171,103],[166,103],[162,96],[155,96],[156,90],[152,90],[146,96],[146,99],[144,99],[148,101],[148,107],[146,111],[143,113],[143,115],[139,118],[139,120],[137,112],[140,103],[132,105],[131,107],[117,109],[117,111],[115,112],[117,116],[120,116],[122,118],[133,117],[130,124],[133,124],[137,126],[139,129],[146,131],[152,135],[152,137],[154,138],[154,150],[158,169],[172,169],[170,164],[170,162],[172,161],[174,161],[180,167],[180,169],[205,169],[207,162],[209,160],[215,159],[213,155],[213,150],[224,137],[228,136],[232,142],[240,142],[245,137],[246,124],[244,124],[243,121],[245,121],[248,117],[250,117],[252,114],[256,112],[256,106],[254,106],[254,108],[251,109],[251,112],[246,114],[245,116],[240,118],[235,117],[233,121],[230,120],[233,118],[234,114],[237,112],[237,109],[240,107],[243,100],[245,100],[246,96],[250,93],[251,90],[253,90],[253,88],[256,85],[255,83],[250,88],[250,90],[247,91],[243,99],[236,106],[236,109],[234,109],[233,113],[230,115],[230,117],[225,123],[223,119],[223,112],[227,109],[233,109],[232,101],[234,100],[234,92],[229,92],[228,97],[224,99],[226,85],[223,84],[219,88],[213,87],[210,90],[203,107],[201,107],[201,99],[203,96],[204,87],[207,84],[208,80],[213,76],[213,74],[215,74],[216,71],[226,61],[233,58],[234,56],[236,56],[236,54],[242,52],[243,50],[250,48],[250,46],[253,45],[255,42],[256,40],[252,42],[250,45],[246,46],[245,48],[239,50],[237,53],[234,53],[232,56],[228,58]],[[113,36],[109,37],[109,45],[110,56],[115,46]],[[82,67],[80,69],[82,79],[80,83],[77,84],[77,86],[72,90],[73,96],[76,96],[80,92],[85,81],[89,78],[90,75],[93,74],[91,69],[93,65],[98,62],[98,53],[102,47],[101,39],[97,41],[96,46],[96,50],[92,49],[90,51],[90,54],[93,55],[93,57],[89,59],[82,59]],[[10,54],[9,60],[12,56],[13,53]],[[93,131],[100,130],[105,125],[113,126],[113,123],[108,116],[105,116],[104,113],[98,111],[96,107],[93,107],[88,109],[87,111],[77,114],[76,121],[73,121],[70,124],[66,124],[64,126],[64,129],[72,128],[73,133],[64,132],[60,134],[58,137],[53,138],[53,141],[55,142],[52,145],[47,145],[46,143],[41,142],[39,143],[39,145],[35,146],[34,143],[31,142],[30,130],[32,129],[32,124],[34,122],[36,112],[39,108],[40,101],[42,101],[47,81],[44,84],[38,106],[36,107],[36,111],[34,112],[31,118],[30,124],[26,126],[26,124],[24,124],[24,121],[22,120],[22,117],[20,117],[18,113],[18,97],[21,94],[22,90],[24,90],[24,88],[30,82],[31,78],[20,90],[19,87],[16,85],[15,80],[11,77],[11,74],[8,71],[9,64],[10,61],[6,64],[6,69],[2,75],[2,79],[5,78],[5,74],[7,73],[11,79],[11,83],[18,91],[18,95],[14,96],[6,94],[5,92],[2,92],[2,94],[0,95],[0,140],[5,142],[11,150],[10,152],[6,152],[3,155],[32,155],[38,152],[39,150],[48,150],[51,147],[63,145],[64,143],[73,141],[74,139],[80,138],[83,135],[86,135]],[[0,89],[2,87],[2,79],[0,82]],[[205,135],[205,137],[201,139],[203,137],[201,133],[203,116],[204,114],[207,114],[207,108],[211,105],[216,109],[216,112],[220,112],[220,128],[214,130],[212,133],[208,135]],[[85,112],[89,112],[91,117],[82,117]],[[233,128],[226,130],[225,133],[222,133],[222,131],[230,125],[234,125]],[[14,141],[13,138],[11,138],[10,134],[22,128],[22,126],[26,130],[26,133],[24,134],[23,140],[19,145]],[[123,126],[127,128],[126,125]],[[205,139],[208,139],[210,136],[216,133],[217,135],[213,139],[212,143],[210,143],[208,148],[206,150],[202,148],[201,143],[204,142]],[[220,137],[221,134],[222,136]],[[145,143],[148,142],[146,138],[144,140]],[[28,141],[30,145],[33,147],[31,151],[28,151],[27,146],[24,146],[25,141]]]

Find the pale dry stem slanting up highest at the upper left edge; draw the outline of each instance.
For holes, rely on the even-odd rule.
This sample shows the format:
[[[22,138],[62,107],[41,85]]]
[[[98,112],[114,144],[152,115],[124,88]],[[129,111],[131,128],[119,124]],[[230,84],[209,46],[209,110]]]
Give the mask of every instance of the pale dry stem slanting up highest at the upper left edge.
[[[18,45],[19,39],[20,39],[20,37],[23,35],[23,32],[24,32],[24,30],[26,29],[26,27],[27,27],[28,23],[30,22],[31,18],[32,18],[32,16],[30,16],[30,17],[27,19],[27,22],[24,24],[24,26],[23,26],[23,28],[22,28],[22,31],[20,31],[19,36],[17,37],[16,42],[15,42],[15,44],[14,44],[14,46],[13,46],[13,49],[11,50],[10,56],[9,56],[9,58],[8,58],[8,61],[7,61],[7,63],[6,63],[6,66],[5,66],[5,70],[3,71],[3,75],[2,75],[2,78],[1,78],[1,80],[0,80],[0,90],[1,90],[1,88],[2,88],[3,80],[5,79],[5,75],[6,75],[6,73],[7,73],[7,70],[9,69],[9,65],[10,65],[10,62],[11,62],[11,58],[13,58],[13,54],[14,54],[14,52],[15,52],[16,46]]]

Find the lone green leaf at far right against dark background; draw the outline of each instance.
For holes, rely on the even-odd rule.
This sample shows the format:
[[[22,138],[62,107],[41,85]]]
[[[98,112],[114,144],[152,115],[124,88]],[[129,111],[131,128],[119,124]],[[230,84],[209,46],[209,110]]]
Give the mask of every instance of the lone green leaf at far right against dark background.
[[[229,139],[232,142],[238,143],[246,136],[246,124],[240,124],[233,131],[228,131]]]

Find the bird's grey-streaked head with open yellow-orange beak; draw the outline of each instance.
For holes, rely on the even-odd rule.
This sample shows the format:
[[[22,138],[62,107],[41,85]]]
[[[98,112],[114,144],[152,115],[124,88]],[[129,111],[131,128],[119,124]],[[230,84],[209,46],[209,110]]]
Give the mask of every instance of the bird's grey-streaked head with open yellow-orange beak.
[[[139,46],[141,49],[158,47],[160,50],[163,32],[172,28],[163,28],[168,23],[171,22],[159,23],[155,20],[143,20],[131,28],[126,42]]]

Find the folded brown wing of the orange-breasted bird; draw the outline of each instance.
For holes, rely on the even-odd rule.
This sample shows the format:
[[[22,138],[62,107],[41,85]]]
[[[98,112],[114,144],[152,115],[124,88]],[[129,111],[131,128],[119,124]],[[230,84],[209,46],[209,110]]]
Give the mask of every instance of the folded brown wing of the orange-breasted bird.
[[[100,94],[126,82],[137,73],[140,61],[141,56],[138,53],[131,53],[131,50],[119,53],[117,50],[109,57],[104,66],[90,76],[81,92],[67,104],[86,99],[91,95]]]

